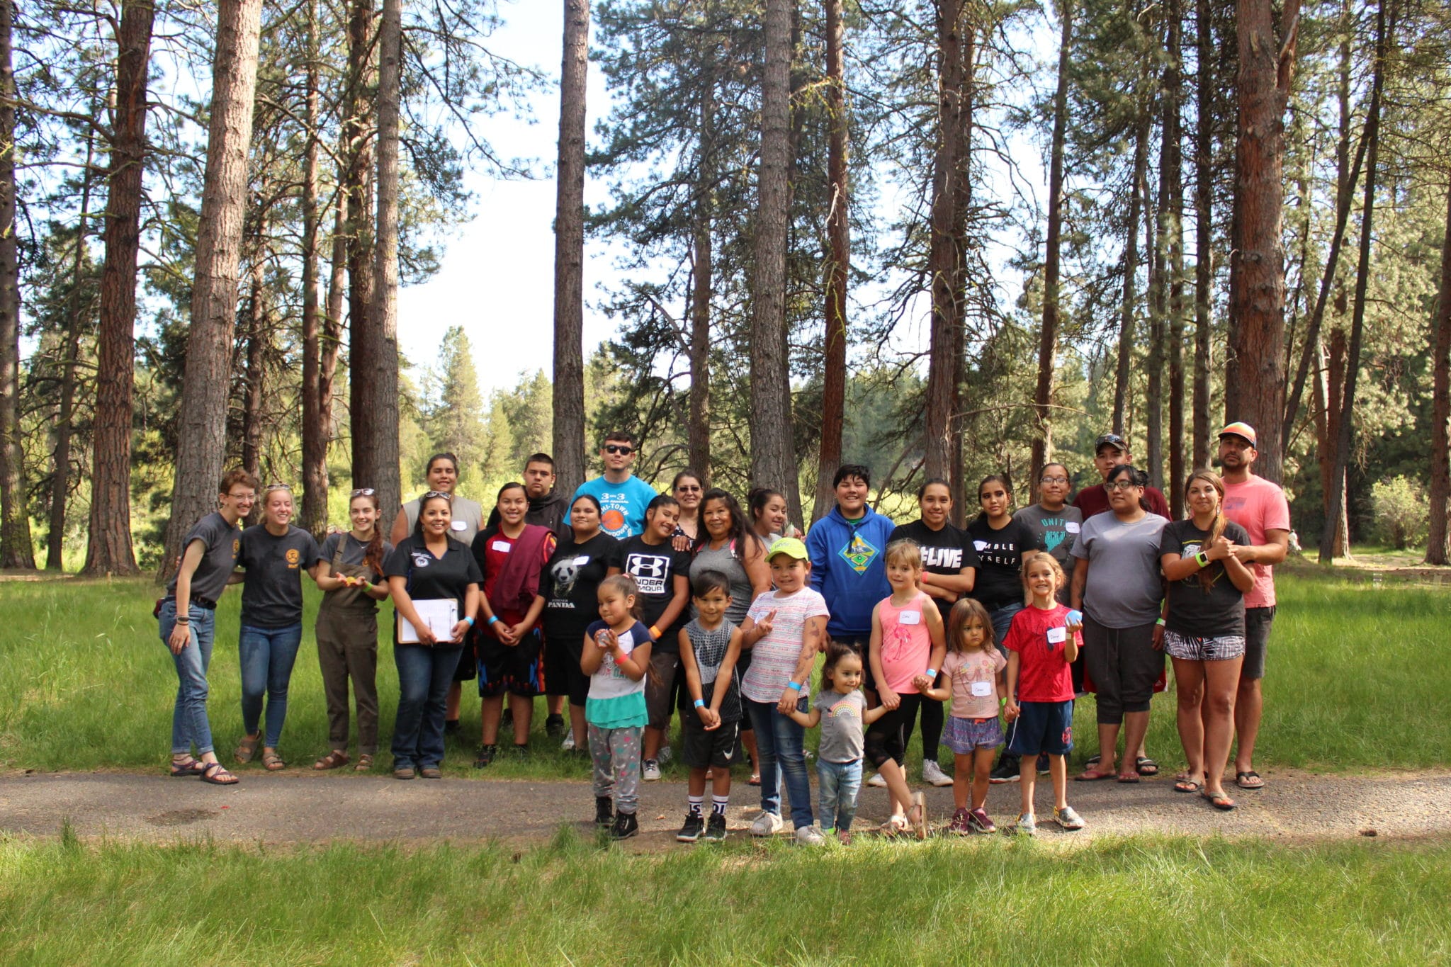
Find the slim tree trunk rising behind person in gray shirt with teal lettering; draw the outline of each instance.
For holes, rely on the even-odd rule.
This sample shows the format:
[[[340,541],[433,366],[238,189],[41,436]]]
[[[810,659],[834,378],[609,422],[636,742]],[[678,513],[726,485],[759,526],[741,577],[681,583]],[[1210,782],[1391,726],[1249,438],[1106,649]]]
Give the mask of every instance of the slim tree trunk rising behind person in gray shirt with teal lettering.
[[[1074,6],[1062,0],[1058,10],[1058,90],[1053,91],[1053,144],[1048,159],[1048,251],[1043,258],[1043,328],[1037,335],[1037,426],[1033,435],[1033,462],[1029,483],[1043,476],[1043,464],[1053,455],[1053,429],[1049,403],[1053,402],[1053,370],[1058,365],[1058,273],[1064,231],[1064,142],[1068,139],[1068,52],[1072,49]]]

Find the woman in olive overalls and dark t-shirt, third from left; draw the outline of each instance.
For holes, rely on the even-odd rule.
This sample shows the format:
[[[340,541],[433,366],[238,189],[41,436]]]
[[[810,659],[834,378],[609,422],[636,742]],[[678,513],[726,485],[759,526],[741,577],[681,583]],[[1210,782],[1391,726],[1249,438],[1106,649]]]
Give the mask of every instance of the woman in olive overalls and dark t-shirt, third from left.
[[[373,768],[377,754],[377,602],[387,597],[383,558],[393,545],[377,529],[379,503],[371,487],[348,500],[351,534],[331,534],[322,542],[318,587],[318,665],[328,700],[328,741],[332,751],[313,763],[316,770],[347,765],[348,678],[358,713],[358,761],[354,771]]]

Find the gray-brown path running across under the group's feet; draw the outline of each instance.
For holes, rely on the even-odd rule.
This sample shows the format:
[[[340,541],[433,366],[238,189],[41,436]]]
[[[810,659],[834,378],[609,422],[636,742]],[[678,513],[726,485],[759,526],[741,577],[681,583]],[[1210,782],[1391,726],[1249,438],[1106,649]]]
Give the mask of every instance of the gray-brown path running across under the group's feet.
[[[1048,777],[1045,776],[1043,780]],[[1091,839],[1110,834],[1167,832],[1322,839],[1368,835],[1451,835],[1451,773],[1397,773],[1387,777],[1323,777],[1293,771],[1267,774],[1258,793],[1238,793],[1239,809],[1216,812],[1199,796],[1175,793],[1161,776],[1138,786],[1069,783],[1069,802],[1088,828],[1062,834],[1046,823],[1040,838]],[[950,789],[927,789],[934,823],[952,812]],[[1051,800],[1039,789],[1039,803]],[[1016,784],[995,786],[988,810],[1006,825],[1016,813]],[[756,789],[737,786],[730,829],[744,828],[759,809]],[[685,808],[681,783],[649,783],[641,790],[641,835],[636,850],[675,845]],[[51,837],[70,821],[81,837],[177,841],[297,844],[332,838],[412,841],[502,838],[538,841],[562,823],[589,829],[593,802],[588,783],[460,780],[398,781],[382,777],[281,776],[248,773],[229,789],[165,776],[52,773],[0,777],[0,832]],[[879,822],[887,793],[866,789],[858,828]],[[1040,822],[1048,810],[1039,808]]]

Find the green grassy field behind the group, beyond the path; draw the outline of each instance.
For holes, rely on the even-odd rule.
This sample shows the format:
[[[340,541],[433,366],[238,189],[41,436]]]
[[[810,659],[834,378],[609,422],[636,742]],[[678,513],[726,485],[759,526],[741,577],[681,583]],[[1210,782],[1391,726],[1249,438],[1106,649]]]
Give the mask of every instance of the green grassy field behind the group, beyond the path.
[[[326,751],[312,622],[318,592],[311,583],[306,636],[293,673],[281,752],[309,767]],[[158,770],[165,761],[176,674],[151,618],[154,586],[133,581],[0,583],[0,768]],[[212,728],[229,752],[241,736],[237,663],[238,593],[218,612],[212,664]],[[390,621],[387,609],[382,626]],[[1451,665],[1447,625],[1451,594],[1387,583],[1376,590],[1302,568],[1280,581],[1265,680],[1259,738],[1262,765],[1357,770],[1451,763]],[[379,694],[385,754],[398,680],[385,632]],[[1172,693],[1155,699],[1149,752],[1178,764]],[[535,755],[527,765],[501,761],[490,776],[577,777],[588,767],[543,736],[543,699],[535,712]],[[450,742],[445,770],[477,774],[477,702],[466,690],[464,734]],[[1093,700],[1077,713],[1075,761],[1096,751]],[[505,742],[508,736],[505,735]],[[811,736],[810,741],[814,741]],[[917,739],[913,739],[917,757]],[[226,755],[229,760],[229,755]],[[673,767],[673,764],[672,764]],[[255,765],[252,768],[257,768]],[[667,767],[667,773],[670,767]]]

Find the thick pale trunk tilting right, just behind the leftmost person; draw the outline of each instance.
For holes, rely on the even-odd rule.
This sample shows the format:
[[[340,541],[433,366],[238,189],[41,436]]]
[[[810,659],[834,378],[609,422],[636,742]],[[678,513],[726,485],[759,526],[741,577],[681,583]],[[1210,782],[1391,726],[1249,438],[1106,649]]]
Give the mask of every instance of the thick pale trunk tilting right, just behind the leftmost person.
[[[176,486],[158,580],[170,577],[186,532],[215,506],[216,481],[226,458],[226,397],[261,10],[261,0],[221,0],[218,4],[212,119],[196,238],[192,331],[178,410]]]

